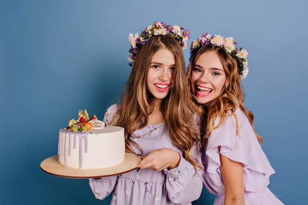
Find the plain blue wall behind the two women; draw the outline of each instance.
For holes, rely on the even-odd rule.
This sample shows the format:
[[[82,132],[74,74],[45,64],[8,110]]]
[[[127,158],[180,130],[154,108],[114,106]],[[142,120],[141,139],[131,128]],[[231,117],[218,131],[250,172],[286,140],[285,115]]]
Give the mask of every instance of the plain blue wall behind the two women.
[[[189,44],[210,32],[247,49],[245,104],[277,172],[269,187],[285,204],[307,205],[307,10],[307,0],[0,0],[0,204],[110,204],[88,180],[39,165],[79,109],[102,118],[117,101],[128,34],[159,20],[189,29]],[[213,201],[204,190],[193,205]]]

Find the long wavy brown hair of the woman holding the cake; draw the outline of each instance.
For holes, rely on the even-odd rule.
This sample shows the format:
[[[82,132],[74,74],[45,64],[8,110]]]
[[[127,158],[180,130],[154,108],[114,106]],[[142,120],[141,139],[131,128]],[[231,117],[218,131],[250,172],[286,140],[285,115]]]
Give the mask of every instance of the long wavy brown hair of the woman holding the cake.
[[[170,50],[175,57],[173,82],[168,95],[162,100],[160,111],[164,117],[172,143],[183,150],[185,159],[195,169],[190,150],[198,142],[198,133],[193,119],[193,102],[185,77],[185,61],[180,44],[171,36],[159,35],[150,38],[136,56],[128,81],[122,92],[118,112],[111,125],[124,127],[126,151],[134,153],[131,145],[140,147],[132,138],[138,138],[134,131],[148,124],[148,117],[154,110],[154,97],[147,89],[147,74],[151,59],[159,49]]]

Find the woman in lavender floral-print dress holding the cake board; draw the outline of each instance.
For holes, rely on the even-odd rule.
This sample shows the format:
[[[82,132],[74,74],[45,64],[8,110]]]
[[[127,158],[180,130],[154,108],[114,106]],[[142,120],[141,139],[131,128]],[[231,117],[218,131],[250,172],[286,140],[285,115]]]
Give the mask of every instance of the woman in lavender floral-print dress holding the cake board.
[[[124,127],[126,151],[142,156],[137,170],[90,179],[97,199],[113,205],[190,205],[202,190],[199,128],[185,78],[182,48],[189,31],[155,22],[130,34],[132,70],[107,124]],[[198,162],[200,164],[198,164]]]

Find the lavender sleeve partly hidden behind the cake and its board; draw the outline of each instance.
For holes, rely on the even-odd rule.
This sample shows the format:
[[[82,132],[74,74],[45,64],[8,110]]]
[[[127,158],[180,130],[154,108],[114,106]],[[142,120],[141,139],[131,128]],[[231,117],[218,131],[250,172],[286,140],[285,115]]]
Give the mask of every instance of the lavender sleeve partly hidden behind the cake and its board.
[[[109,125],[118,111],[118,104],[110,106],[103,121]],[[102,177],[100,179],[89,178],[90,187],[96,199],[104,200],[110,193],[112,193],[117,185],[119,176]]]

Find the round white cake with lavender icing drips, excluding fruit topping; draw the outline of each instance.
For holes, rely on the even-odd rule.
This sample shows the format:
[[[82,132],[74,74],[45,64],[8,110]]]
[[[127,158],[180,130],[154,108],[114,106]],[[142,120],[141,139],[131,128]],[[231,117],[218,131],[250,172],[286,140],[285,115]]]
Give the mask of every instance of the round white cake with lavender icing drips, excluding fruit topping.
[[[58,143],[59,162],[64,167],[99,169],[124,160],[124,128],[107,126],[88,132],[61,129]]]

